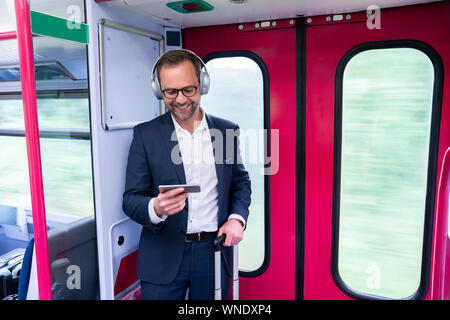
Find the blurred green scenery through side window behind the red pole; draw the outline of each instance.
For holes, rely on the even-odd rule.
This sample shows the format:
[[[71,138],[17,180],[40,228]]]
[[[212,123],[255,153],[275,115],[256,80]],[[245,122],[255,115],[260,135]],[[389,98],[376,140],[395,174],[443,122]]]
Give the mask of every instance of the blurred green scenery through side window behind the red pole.
[[[43,99],[38,94],[40,131],[61,136],[40,138],[45,208],[50,214],[94,214],[91,141],[65,137],[66,132],[77,131],[89,136],[89,103],[87,93],[84,95]],[[20,95],[0,98],[0,129],[14,129],[24,135]],[[1,203],[31,209],[25,137],[0,135],[0,145]]]

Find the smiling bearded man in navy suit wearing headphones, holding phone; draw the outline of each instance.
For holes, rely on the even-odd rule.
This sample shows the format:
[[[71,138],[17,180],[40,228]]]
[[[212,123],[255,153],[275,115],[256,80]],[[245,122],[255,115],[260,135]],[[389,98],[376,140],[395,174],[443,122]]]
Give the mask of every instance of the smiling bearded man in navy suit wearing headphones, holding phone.
[[[169,112],[134,128],[123,210],[143,225],[137,262],[143,299],[184,299],[187,288],[190,299],[212,299],[213,240],[222,234],[222,288],[227,297],[231,246],[243,239],[250,179],[239,161],[237,134],[227,136],[227,130],[238,126],[200,107],[200,95],[209,86],[202,65],[187,50],[161,56],[154,68],[154,91]],[[224,141],[213,143],[216,139]],[[186,183],[200,185],[201,192],[158,189]]]

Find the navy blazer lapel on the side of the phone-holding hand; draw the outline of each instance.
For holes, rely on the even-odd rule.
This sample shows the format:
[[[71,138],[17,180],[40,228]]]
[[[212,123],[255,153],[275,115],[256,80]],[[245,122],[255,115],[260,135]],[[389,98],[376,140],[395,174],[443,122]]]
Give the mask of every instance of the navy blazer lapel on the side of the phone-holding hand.
[[[175,168],[175,172],[180,180],[180,184],[186,183],[186,176],[184,174],[183,161],[181,159],[180,148],[178,146],[178,139],[175,133],[175,126],[173,125],[173,120],[170,116],[170,112],[166,112],[161,117],[160,133],[162,136],[162,141],[166,146],[167,152],[169,153],[169,162],[172,163]]]

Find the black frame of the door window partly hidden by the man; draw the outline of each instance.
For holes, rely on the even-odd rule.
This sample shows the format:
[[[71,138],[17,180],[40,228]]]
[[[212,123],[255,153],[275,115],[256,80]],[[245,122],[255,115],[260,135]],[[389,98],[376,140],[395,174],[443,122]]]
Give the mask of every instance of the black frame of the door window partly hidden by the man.
[[[234,58],[244,57],[249,58],[255,62],[262,73],[263,77],[263,129],[270,133],[270,86],[269,86],[269,71],[267,69],[264,60],[248,50],[230,50],[230,51],[216,51],[202,57],[203,62],[206,63],[218,58]],[[270,154],[270,134],[267,136],[267,144],[264,146],[264,154],[268,157]],[[265,168],[270,168],[270,164],[265,165]],[[239,270],[239,276],[254,278],[262,275],[270,263],[270,175],[264,175],[264,259],[261,266],[254,271],[241,271]]]

